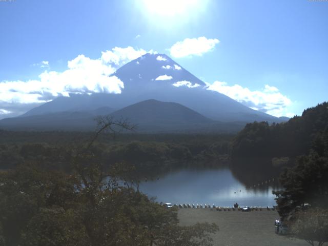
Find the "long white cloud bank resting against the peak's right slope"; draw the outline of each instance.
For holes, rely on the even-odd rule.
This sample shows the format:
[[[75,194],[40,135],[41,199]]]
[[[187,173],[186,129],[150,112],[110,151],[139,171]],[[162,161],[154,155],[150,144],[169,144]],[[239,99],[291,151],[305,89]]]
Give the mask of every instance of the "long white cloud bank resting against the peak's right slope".
[[[229,86],[226,82],[215,81],[208,90],[220,92],[245,106],[277,117],[294,115],[287,109],[292,101],[273,86],[265,85],[262,90],[251,91],[240,85]]]

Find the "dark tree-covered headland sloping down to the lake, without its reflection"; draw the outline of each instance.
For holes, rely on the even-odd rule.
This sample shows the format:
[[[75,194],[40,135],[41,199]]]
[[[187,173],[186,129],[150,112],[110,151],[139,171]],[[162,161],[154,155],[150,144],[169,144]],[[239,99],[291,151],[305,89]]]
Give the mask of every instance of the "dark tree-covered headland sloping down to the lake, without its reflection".
[[[328,103],[303,111],[288,122],[269,125],[268,122],[247,124],[232,141],[232,158],[296,157],[308,154],[313,142],[322,146],[322,136],[328,132]]]

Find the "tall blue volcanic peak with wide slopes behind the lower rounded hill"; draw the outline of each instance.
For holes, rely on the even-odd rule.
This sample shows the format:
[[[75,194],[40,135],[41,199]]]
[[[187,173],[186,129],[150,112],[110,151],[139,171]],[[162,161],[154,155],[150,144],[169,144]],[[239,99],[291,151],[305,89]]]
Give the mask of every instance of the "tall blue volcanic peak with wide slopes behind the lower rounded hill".
[[[142,55],[119,68],[113,75],[124,82],[121,94],[71,94],[36,107],[23,116],[95,110],[104,106],[121,109],[140,101],[156,99],[181,104],[207,118],[222,122],[285,121],[208,90],[203,81],[165,54]]]

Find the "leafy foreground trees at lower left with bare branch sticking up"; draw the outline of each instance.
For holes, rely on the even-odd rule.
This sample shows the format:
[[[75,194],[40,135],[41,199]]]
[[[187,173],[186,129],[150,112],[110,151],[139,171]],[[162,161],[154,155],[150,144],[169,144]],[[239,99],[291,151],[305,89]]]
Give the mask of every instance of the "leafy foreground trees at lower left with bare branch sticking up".
[[[129,129],[111,118],[98,122],[96,137]],[[212,245],[214,224],[180,227],[175,209],[119,186],[120,167],[104,170],[92,149],[96,137],[76,151],[74,173],[25,163],[0,174],[0,245]]]

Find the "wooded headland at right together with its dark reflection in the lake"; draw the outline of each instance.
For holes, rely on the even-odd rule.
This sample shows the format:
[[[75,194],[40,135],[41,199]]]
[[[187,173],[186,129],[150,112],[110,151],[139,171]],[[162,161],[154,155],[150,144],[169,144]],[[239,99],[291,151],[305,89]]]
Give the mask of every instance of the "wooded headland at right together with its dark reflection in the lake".
[[[328,103],[304,110],[288,122],[247,124],[231,141],[231,169],[245,185],[278,178],[284,167],[312,150],[319,155],[328,141]]]

